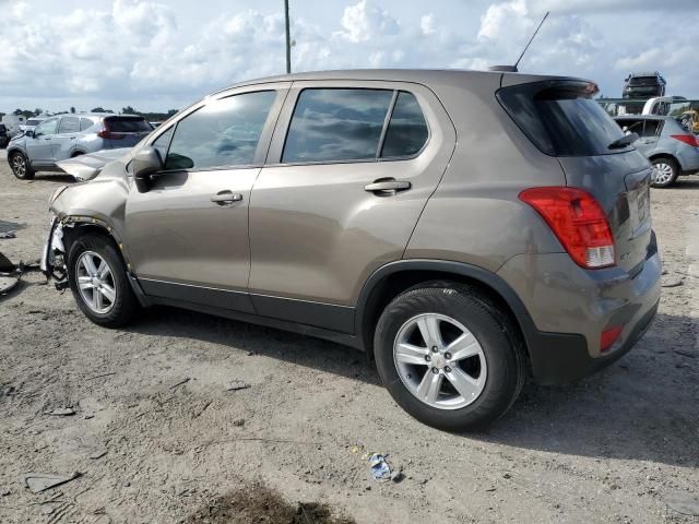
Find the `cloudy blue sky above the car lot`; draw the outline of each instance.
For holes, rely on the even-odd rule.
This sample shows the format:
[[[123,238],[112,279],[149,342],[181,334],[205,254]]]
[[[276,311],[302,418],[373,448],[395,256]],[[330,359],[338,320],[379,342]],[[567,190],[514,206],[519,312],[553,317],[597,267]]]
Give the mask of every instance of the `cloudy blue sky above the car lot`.
[[[660,70],[699,98],[699,0],[289,0],[293,69],[520,70],[595,80],[620,96]],[[180,108],[284,72],[283,0],[0,0],[0,111]]]

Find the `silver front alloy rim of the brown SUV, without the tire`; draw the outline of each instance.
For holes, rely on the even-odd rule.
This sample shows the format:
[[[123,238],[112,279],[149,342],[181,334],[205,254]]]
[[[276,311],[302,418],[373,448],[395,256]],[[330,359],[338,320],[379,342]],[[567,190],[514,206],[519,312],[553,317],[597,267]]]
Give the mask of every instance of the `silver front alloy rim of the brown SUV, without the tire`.
[[[75,279],[80,296],[91,311],[108,313],[117,300],[114,275],[109,264],[94,251],[85,251],[75,263]]]

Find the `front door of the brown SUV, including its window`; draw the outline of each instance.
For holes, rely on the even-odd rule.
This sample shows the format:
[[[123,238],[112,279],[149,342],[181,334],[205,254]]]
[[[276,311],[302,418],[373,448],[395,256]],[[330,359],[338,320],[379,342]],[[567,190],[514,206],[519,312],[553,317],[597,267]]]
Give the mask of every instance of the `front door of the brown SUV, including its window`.
[[[146,294],[252,311],[250,190],[284,94],[205,100],[155,138],[164,170],[145,188],[132,184],[126,212],[129,257]]]

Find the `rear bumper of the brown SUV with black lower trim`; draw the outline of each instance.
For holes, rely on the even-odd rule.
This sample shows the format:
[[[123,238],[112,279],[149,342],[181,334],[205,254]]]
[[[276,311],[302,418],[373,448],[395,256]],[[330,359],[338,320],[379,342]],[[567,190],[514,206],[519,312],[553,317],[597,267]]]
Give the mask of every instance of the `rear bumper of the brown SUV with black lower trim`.
[[[565,253],[524,254],[506,263],[498,275],[528,311],[518,317],[536,381],[569,383],[628,353],[655,318],[661,273],[657,252],[633,277],[619,267],[582,270]],[[620,336],[601,352],[602,332],[616,325],[624,326]]]

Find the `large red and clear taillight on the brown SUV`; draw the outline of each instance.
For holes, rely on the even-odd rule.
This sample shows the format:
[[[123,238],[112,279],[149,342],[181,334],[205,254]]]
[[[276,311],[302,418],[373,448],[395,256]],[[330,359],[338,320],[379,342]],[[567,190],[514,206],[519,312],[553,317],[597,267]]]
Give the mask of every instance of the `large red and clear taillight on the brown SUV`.
[[[581,267],[614,265],[614,237],[604,211],[587,191],[547,187],[526,189],[520,200],[546,221],[570,258]]]

